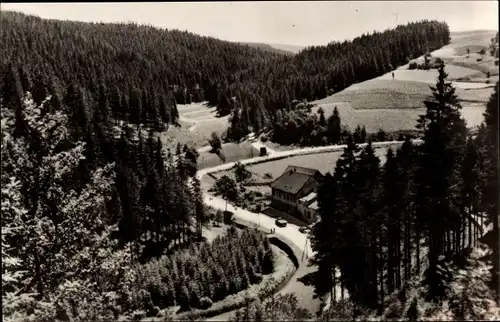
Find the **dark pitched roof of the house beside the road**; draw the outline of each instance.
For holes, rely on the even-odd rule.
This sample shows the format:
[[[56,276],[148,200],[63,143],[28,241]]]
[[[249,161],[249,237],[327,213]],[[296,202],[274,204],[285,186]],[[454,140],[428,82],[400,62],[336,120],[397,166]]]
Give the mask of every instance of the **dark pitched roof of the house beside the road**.
[[[316,179],[318,174],[321,176],[318,170],[289,165],[285,172],[271,183],[271,188],[295,195],[309,179]]]

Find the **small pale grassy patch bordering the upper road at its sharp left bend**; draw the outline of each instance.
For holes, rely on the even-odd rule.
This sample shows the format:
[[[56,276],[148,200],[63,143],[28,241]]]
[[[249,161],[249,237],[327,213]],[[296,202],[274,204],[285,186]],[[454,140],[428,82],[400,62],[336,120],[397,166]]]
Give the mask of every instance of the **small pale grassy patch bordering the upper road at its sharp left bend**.
[[[211,168],[223,163],[259,156],[259,151],[249,142],[225,143],[222,145],[222,153],[226,158],[225,162],[215,153],[210,153],[209,151],[200,153],[198,157],[198,168]]]

